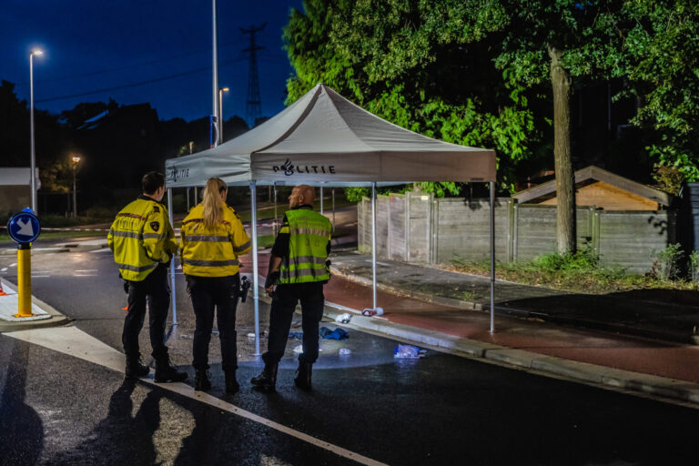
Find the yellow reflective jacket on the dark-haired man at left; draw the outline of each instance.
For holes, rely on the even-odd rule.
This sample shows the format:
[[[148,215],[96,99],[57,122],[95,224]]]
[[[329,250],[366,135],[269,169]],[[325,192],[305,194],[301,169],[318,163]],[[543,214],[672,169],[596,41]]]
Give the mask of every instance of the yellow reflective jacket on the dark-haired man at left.
[[[177,252],[167,208],[143,195],[117,214],[106,240],[121,277],[131,281],[146,279]]]

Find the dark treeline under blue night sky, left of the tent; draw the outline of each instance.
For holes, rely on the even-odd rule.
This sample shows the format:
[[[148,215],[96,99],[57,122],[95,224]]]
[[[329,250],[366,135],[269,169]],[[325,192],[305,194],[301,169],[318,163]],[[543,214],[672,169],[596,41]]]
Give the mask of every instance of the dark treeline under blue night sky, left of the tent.
[[[15,85],[0,85],[0,167],[28,167],[29,104]],[[224,140],[248,131],[240,117],[224,121]],[[138,192],[140,177],[162,170],[165,160],[209,147],[209,118],[160,120],[150,104],[82,103],[60,115],[35,108],[35,154],[42,214],[69,211],[77,167],[80,213],[114,208]]]

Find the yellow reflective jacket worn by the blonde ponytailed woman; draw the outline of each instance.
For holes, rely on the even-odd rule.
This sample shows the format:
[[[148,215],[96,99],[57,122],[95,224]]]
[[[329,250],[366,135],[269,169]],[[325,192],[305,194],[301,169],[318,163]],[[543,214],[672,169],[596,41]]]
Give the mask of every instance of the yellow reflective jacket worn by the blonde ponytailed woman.
[[[204,206],[198,204],[182,221],[180,262],[185,275],[228,277],[239,270],[238,256],[250,250],[250,237],[233,208],[223,204],[215,228],[204,226]]]

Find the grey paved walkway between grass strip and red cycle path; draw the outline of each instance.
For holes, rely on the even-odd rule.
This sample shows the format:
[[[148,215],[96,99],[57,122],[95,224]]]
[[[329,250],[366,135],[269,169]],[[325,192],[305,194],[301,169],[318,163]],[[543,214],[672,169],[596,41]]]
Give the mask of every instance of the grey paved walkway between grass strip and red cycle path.
[[[335,276],[371,286],[371,257],[340,251],[332,258]],[[377,282],[385,289],[453,308],[490,309],[489,278],[430,266],[380,259]],[[668,299],[669,297],[669,299]],[[569,293],[498,280],[496,314],[574,328],[600,329],[623,335],[676,343],[699,343],[699,292],[643,290],[592,295]]]

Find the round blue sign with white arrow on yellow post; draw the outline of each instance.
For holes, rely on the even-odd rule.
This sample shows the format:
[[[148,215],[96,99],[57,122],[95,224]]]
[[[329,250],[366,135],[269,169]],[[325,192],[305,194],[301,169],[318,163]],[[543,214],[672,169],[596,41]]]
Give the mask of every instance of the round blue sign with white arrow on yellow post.
[[[39,219],[31,208],[25,208],[7,223],[10,238],[17,243],[17,314],[15,317],[34,317],[32,314],[32,242],[41,233]]]

